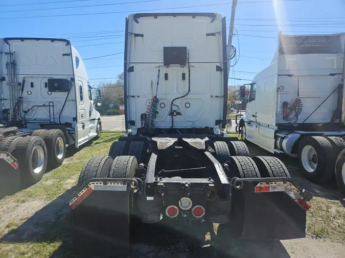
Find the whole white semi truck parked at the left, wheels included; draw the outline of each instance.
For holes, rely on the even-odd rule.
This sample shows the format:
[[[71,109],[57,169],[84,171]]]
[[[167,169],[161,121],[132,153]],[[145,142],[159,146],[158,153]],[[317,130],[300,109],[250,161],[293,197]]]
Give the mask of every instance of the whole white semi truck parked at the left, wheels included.
[[[62,164],[66,146],[100,137],[100,114],[70,41],[3,38],[0,49],[0,151],[18,160],[22,183],[34,184]]]

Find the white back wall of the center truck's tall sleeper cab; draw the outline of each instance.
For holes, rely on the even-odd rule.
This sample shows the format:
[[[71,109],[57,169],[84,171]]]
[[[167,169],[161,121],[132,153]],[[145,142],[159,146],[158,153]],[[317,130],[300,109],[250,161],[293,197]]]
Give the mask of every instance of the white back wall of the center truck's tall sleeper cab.
[[[216,13],[139,13],[126,24],[126,128],[142,128],[141,115],[156,92],[153,127],[219,128],[227,94],[224,18]],[[172,61],[169,51],[185,62]]]

